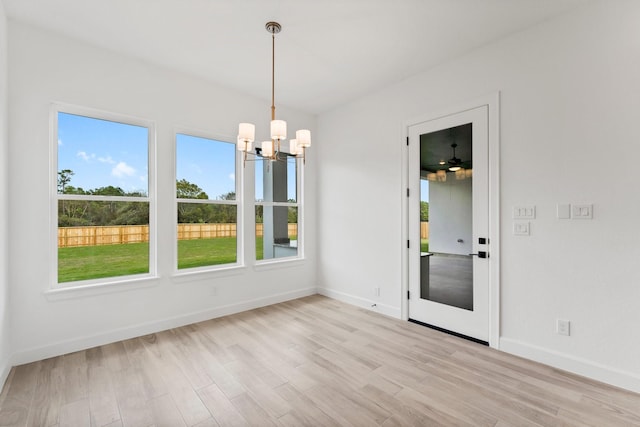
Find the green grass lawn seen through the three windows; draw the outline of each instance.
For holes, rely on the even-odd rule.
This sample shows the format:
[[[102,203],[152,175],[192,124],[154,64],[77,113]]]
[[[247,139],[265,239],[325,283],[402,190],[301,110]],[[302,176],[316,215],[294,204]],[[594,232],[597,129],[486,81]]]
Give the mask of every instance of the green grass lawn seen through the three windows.
[[[262,237],[256,238],[256,252],[256,259],[262,259]],[[178,241],[179,269],[234,262],[235,237]],[[59,283],[148,272],[148,243],[58,249]]]

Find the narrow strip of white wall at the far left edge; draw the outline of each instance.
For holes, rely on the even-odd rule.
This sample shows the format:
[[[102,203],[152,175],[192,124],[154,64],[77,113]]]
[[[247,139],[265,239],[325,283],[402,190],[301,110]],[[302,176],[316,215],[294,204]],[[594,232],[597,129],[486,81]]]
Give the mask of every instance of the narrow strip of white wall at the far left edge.
[[[9,160],[7,129],[8,96],[7,96],[7,18],[4,5],[0,1],[0,389],[9,374],[11,356],[11,340],[9,329],[9,242],[6,238],[9,231]]]

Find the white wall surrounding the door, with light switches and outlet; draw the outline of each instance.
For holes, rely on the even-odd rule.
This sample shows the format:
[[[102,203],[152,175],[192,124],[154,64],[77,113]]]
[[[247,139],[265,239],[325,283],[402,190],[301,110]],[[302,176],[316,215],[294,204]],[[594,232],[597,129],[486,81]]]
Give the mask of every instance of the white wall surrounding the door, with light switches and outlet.
[[[500,347],[640,391],[638,22],[640,2],[596,1],[321,115],[321,292],[399,315],[403,122],[499,90]],[[529,237],[512,234],[521,204]]]

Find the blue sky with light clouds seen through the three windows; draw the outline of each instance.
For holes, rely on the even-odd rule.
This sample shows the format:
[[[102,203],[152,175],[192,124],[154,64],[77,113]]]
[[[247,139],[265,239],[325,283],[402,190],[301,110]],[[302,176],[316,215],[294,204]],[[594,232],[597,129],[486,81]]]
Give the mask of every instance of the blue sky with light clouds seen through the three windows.
[[[176,178],[198,185],[209,199],[235,191],[236,146],[190,135],[176,136]],[[247,162],[250,167],[254,162]],[[262,200],[262,161],[256,161],[256,199]],[[148,193],[148,130],[58,113],[58,171],[71,169],[68,185],[91,190],[113,185]],[[295,161],[289,160],[288,198],[295,198]],[[163,173],[163,171],[158,171]]]

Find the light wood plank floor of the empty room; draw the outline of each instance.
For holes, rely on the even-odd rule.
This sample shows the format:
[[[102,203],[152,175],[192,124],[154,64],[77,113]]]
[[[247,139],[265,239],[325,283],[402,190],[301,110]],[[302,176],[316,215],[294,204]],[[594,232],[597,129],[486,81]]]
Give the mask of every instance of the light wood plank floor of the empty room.
[[[640,395],[321,296],[14,368],[2,426],[623,426]]]

